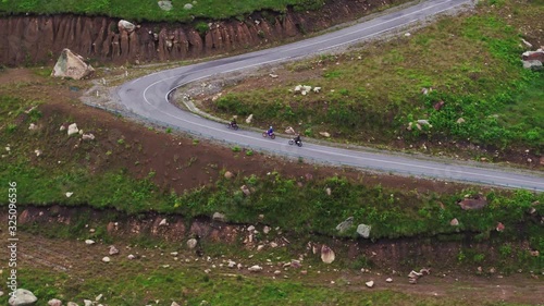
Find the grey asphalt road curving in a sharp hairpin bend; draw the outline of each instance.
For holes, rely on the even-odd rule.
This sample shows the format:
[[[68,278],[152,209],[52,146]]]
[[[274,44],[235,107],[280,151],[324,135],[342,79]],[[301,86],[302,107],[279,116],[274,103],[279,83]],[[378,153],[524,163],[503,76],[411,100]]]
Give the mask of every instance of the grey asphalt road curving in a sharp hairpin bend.
[[[425,176],[446,181],[462,181],[544,192],[544,176],[542,173],[492,167],[472,167],[454,163],[453,161],[416,158],[386,151],[369,152],[360,149],[345,149],[309,143],[305,143],[302,148],[298,148],[289,146],[285,138],[277,137],[275,140],[272,140],[263,138],[260,134],[251,131],[227,130],[225,124],[181,110],[169,101],[170,94],[175,88],[187,83],[217,74],[285,62],[310,53],[322,52],[327,49],[357,42],[452,10],[469,3],[469,1],[424,1],[413,7],[319,37],[272,49],[149,74],[121,85],[116,94],[121,103],[136,115],[159,122],[163,125],[176,126],[201,137],[242,145],[260,151],[401,175]]]

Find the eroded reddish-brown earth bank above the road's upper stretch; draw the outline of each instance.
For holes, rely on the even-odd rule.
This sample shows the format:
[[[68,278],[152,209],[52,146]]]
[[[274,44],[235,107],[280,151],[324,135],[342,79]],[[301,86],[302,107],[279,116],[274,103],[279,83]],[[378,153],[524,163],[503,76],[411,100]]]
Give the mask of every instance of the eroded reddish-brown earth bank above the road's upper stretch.
[[[404,0],[329,1],[314,12],[257,12],[244,22],[210,23],[199,34],[186,24],[141,23],[128,33],[119,19],[75,15],[0,19],[0,63],[53,63],[69,48],[98,62],[182,60],[267,45],[362,16]]]

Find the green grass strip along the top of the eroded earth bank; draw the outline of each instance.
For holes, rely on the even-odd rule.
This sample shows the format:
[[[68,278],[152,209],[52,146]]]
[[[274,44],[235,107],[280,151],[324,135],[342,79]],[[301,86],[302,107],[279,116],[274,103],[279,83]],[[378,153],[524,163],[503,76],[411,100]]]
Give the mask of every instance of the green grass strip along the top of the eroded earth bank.
[[[184,10],[186,3],[193,3],[191,10]],[[3,0],[0,1],[0,12],[8,13],[76,13],[86,15],[107,15],[131,21],[169,21],[190,22],[195,17],[227,19],[243,16],[255,11],[271,9],[279,12],[286,11],[287,5],[295,9],[318,9],[321,0],[173,0],[174,9],[163,11],[157,1],[140,0]]]

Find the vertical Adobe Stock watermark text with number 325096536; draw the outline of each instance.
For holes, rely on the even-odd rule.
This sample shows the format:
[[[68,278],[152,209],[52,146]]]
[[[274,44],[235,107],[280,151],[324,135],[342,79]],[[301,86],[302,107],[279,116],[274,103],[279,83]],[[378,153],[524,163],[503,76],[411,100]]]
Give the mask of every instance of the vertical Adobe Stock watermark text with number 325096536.
[[[8,267],[8,287],[14,296],[17,290],[17,183],[10,182],[8,187],[8,249],[10,250]]]

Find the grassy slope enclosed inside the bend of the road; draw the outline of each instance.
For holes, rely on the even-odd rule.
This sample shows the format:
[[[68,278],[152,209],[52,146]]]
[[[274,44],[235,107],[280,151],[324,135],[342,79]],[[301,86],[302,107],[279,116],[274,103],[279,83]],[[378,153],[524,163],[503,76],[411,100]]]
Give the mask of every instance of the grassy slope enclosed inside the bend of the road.
[[[544,7],[505,1],[521,26],[542,25]],[[293,64],[320,76],[287,86],[245,90],[218,99],[209,111],[254,114],[257,125],[300,126],[308,136],[333,132],[339,140],[390,144],[470,140],[497,148],[544,150],[544,73],[523,70],[523,49],[511,20],[483,4],[475,15],[443,17],[410,37],[371,42],[341,57]],[[503,12],[503,14],[505,14]],[[295,83],[297,82],[297,83]],[[321,94],[294,95],[297,84],[320,86]],[[429,96],[422,87],[433,87]],[[445,106],[434,110],[443,100]],[[462,118],[465,123],[457,124]],[[406,131],[428,119],[430,131]],[[299,125],[301,123],[301,125]]]

